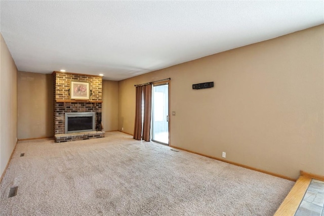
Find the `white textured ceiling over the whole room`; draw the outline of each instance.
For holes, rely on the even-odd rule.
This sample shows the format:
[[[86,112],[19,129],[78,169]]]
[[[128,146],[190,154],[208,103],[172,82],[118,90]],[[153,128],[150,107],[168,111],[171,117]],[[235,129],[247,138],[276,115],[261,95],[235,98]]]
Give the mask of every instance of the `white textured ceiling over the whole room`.
[[[121,80],[324,23],[323,1],[1,1],[18,70]],[[278,51],[280,52],[280,51]]]

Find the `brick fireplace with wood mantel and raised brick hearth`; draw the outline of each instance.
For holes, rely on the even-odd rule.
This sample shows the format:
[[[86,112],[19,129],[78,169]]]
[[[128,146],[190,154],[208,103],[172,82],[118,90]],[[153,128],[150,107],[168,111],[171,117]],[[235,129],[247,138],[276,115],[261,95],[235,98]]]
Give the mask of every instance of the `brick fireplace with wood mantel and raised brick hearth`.
[[[54,71],[54,139],[55,142],[67,142],[104,137],[101,131],[102,77]],[[71,81],[89,83],[89,99],[71,99],[73,91]],[[65,133],[66,113],[93,113],[95,128],[93,131]],[[98,119],[99,117],[99,119]]]

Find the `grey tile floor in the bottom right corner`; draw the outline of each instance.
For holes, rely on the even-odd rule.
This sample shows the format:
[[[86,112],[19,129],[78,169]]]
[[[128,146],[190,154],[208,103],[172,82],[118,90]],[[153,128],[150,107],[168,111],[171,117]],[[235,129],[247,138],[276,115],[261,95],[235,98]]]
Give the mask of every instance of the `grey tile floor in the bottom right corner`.
[[[324,216],[324,182],[312,179],[295,216]]]

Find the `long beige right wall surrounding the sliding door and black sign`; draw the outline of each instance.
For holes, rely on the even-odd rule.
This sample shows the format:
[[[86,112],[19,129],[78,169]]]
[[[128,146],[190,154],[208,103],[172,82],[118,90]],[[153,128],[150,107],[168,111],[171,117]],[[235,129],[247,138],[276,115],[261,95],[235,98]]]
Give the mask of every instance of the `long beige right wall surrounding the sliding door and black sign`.
[[[290,178],[324,175],[323,25],[119,81],[133,134],[134,84],[171,77],[171,145]],[[215,87],[192,90],[214,81]]]

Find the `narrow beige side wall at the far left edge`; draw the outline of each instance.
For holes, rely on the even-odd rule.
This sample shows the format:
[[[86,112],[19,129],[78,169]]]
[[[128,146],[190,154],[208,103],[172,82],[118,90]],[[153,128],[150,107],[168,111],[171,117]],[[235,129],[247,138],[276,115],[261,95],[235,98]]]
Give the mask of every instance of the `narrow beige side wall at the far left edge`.
[[[3,174],[17,138],[17,67],[1,34],[0,171]]]

